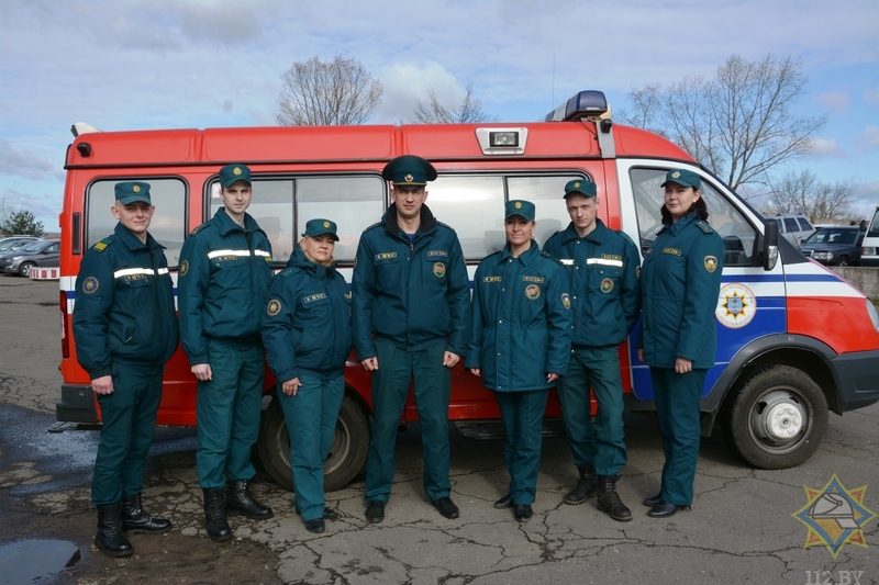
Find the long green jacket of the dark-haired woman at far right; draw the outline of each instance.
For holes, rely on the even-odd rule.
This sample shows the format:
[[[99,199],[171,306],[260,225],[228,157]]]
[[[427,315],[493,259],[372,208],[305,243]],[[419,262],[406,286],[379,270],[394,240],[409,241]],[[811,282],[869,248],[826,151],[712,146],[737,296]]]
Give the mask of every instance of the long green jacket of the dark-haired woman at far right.
[[[723,272],[723,239],[692,211],[657,234],[644,256],[641,285],[644,320],[637,346],[647,365],[693,369],[714,365],[714,311]]]

